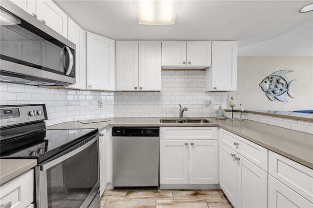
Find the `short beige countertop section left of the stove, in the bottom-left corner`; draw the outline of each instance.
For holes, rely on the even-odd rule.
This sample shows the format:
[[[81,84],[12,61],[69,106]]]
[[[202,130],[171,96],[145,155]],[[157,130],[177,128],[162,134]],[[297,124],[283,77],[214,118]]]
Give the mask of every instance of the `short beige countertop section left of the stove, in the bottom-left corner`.
[[[0,185],[12,180],[36,165],[36,159],[1,159]]]

